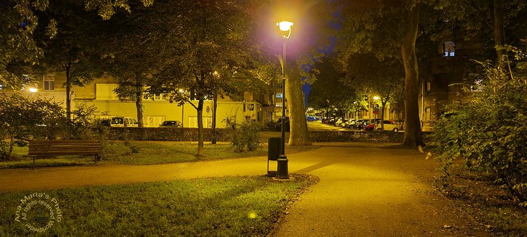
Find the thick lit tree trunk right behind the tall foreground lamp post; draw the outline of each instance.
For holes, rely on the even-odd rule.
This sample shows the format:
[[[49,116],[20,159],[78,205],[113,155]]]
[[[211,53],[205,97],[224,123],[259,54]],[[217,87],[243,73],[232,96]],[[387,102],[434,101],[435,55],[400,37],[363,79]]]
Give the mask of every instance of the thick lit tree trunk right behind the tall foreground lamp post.
[[[285,95],[288,99],[289,108],[289,146],[312,145],[307,132],[307,122],[305,121],[304,95],[302,93],[301,75],[296,71],[296,66],[289,70],[289,77],[286,77]]]

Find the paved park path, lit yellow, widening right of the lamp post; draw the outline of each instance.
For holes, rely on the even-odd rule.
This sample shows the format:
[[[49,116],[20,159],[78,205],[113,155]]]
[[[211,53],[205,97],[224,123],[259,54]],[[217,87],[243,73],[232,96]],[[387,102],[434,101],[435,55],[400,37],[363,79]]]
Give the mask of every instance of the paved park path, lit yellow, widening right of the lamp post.
[[[292,205],[275,236],[485,235],[438,195],[437,163],[389,145],[325,144],[288,155],[290,173],[317,175]],[[195,177],[262,175],[266,157],[152,166],[102,165],[0,170],[0,192],[154,182]],[[445,228],[447,226],[448,228]]]

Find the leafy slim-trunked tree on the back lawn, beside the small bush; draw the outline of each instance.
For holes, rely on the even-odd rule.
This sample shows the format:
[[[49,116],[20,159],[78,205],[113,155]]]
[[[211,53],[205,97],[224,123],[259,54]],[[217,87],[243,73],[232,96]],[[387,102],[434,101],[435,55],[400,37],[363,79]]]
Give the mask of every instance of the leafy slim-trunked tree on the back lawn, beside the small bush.
[[[198,155],[204,155],[204,100],[251,79],[249,33],[256,9],[257,1],[156,1],[133,20],[150,31],[143,36],[145,46],[163,58],[152,71],[150,92],[169,93],[196,108]]]

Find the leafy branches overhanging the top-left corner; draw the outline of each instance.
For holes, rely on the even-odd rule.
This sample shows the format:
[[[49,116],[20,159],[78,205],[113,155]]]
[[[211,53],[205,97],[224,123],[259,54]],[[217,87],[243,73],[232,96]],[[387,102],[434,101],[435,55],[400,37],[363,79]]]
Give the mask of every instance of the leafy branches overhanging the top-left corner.
[[[137,0],[144,6],[152,5],[154,0]],[[128,0],[99,1],[78,0],[68,1],[81,5],[86,11],[96,10],[104,19],[109,19],[116,11],[130,12]],[[132,2],[136,2],[133,0]],[[77,4],[78,3],[78,4]],[[55,38],[57,22],[49,18],[46,25],[39,25],[38,14],[53,6],[49,0],[11,0],[0,2],[0,85],[2,87],[19,88],[28,82],[25,65],[38,64],[44,50],[35,38],[40,29],[47,38]],[[60,3],[62,4],[62,3]],[[76,6],[74,8],[77,8]],[[41,37],[40,37],[41,38]],[[34,79],[34,78],[33,78]]]

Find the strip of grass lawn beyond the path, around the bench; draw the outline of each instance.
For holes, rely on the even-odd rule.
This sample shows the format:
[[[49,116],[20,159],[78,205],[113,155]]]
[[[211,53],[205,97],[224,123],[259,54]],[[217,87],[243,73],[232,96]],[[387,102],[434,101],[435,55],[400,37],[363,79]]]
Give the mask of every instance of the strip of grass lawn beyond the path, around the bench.
[[[286,149],[286,153],[308,151],[318,147],[296,147]],[[197,157],[197,142],[166,142],[166,141],[132,141],[128,145],[121,141],[108,141],[104,144],[104,154],[99,164],[169,164],[178,162],[193,162],[203,160],[218,160],[225,158],[244,158],[250,156],[266,156],[267,146],[260,145],[256,151],[237,153],[230,144],[204,144],[205,157]],[[15,159],[0,161],[0,169],[31,168],[33,159],[27,156],[28,147],[14,147]],[[93,165],[93,156],[63,155],[57,158],[37,158],[36,167]]]

